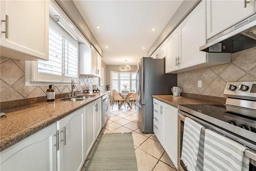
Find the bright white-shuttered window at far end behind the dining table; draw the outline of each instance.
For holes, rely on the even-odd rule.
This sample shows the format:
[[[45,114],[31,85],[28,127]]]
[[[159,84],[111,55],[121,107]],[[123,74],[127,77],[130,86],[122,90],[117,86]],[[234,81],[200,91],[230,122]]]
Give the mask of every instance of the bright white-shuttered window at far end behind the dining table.
[[[136,91],[136,72],[111,72],[111,89],[118,92]]]

